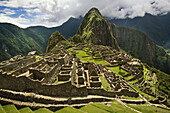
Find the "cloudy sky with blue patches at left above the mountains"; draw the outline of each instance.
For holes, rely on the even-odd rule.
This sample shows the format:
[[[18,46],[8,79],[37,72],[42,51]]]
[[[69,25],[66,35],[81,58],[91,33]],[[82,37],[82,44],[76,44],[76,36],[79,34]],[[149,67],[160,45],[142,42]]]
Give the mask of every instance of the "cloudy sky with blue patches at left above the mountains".
[[[110,18],[134,18],[170,12],[170,0],[0,0],[0,22],[22,28],[55,27],[70,17],[84,16],[92,7]]]

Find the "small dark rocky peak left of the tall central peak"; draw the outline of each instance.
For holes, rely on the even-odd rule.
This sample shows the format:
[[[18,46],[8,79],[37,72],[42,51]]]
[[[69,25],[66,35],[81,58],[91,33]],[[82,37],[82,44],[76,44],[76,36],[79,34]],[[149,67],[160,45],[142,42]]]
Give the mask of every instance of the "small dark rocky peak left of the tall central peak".
[[[66,39],[58,31],[55,31],[49,39],[46,52],[50,52],[50,50],[52,50],[61,41],[66,41]]]

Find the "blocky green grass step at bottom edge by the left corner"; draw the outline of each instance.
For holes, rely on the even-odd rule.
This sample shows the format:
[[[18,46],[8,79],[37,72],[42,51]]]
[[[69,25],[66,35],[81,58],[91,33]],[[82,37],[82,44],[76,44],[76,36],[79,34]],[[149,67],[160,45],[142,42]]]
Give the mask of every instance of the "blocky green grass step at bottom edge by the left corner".
[[[6,113],[19,113],[15,105],[5,105],[3,106],[3,109]]]

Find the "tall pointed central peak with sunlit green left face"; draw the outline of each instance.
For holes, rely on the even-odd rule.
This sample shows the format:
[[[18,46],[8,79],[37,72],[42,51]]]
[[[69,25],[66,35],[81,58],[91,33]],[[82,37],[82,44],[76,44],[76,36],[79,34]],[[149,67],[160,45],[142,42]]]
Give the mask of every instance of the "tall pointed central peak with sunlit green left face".
[[[98,9],[92,8],[84,17],[77,34],[88,44],[111,46],[119,50],[112,33],[111,24],[101,15]]]

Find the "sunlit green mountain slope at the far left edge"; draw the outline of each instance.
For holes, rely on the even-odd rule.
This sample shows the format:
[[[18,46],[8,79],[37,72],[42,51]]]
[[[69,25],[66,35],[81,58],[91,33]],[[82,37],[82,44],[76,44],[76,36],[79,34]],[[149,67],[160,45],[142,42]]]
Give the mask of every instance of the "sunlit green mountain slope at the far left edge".
[[[31,31],[21,29],[12,24],[0,24],[0,60],[6,60],[12,56],[25,55],[29,51],[36,50],[42,53],[45,50],[45,42],[39,35]]]

